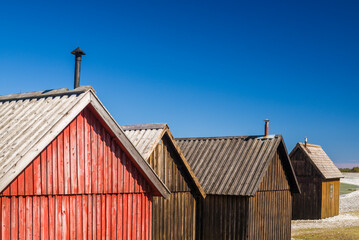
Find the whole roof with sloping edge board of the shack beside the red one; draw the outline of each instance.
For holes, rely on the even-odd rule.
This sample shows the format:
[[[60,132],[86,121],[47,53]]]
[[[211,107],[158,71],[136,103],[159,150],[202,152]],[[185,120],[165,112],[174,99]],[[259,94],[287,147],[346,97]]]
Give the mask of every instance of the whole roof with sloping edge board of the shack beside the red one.
[[[182,154],[181,149],[172,136],[171,131],[169,130],[169,127],[166,123],[123,125],[121,127],[127,137],[132,141],[133,145],[135,145],[137,150],[146,160],[148,160],[148,158],[151,156],[159,141],[163,138],[164,135],[166,135],[170,139],[172,146],[176,149],[180,159],[182,160],[182,163],[184,164],[187,172],[197,187],[197,190],[202,195],[202,197],[206,196],[205,191],[193,173],[193,170],[188,164],[186,158]]]

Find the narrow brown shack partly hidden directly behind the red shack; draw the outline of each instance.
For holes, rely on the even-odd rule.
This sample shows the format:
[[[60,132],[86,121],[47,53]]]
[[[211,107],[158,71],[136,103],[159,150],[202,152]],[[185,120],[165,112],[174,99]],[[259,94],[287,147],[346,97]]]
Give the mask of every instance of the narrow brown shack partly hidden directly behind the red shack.
[[[196,201],[203,199],[205,193],[168,125],[127,125],[122,128],[171,191],[167,200],[154,197],[153,239],[194,240]]]

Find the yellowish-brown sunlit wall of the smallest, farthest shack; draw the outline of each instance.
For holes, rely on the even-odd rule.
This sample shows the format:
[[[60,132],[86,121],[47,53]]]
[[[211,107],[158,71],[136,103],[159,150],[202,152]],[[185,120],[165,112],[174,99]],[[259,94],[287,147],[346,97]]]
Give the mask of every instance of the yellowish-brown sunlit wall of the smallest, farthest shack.
[[[330,185],[333,186],[332,197],[330,194]],[[339,214],[339,193],[339,179],[322,182],[322,218],[333,217]]]

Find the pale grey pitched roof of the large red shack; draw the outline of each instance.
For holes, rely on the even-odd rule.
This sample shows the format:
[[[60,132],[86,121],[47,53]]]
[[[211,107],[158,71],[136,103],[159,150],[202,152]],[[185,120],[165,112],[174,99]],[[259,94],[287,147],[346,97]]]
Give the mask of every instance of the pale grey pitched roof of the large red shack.
[[[0,96],[0,192],[87,106],[134,159],[155,190],[169,190],[142,158],[90,86]]]

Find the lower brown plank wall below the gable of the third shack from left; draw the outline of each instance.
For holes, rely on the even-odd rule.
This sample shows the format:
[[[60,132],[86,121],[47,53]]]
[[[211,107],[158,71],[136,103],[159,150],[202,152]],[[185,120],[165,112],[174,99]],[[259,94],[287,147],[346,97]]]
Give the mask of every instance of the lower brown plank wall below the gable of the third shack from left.
[[[290,191],[257,192],[249,199],[248,239],[291,239]]]

